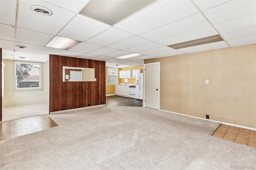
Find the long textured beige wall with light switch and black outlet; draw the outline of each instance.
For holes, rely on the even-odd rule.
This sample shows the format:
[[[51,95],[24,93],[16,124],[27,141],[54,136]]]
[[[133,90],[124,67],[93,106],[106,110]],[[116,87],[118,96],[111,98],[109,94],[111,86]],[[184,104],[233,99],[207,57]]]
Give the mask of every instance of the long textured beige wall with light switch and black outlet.
[[[160,109],[256,128],[256,44],[144,61],[153,62]]]

